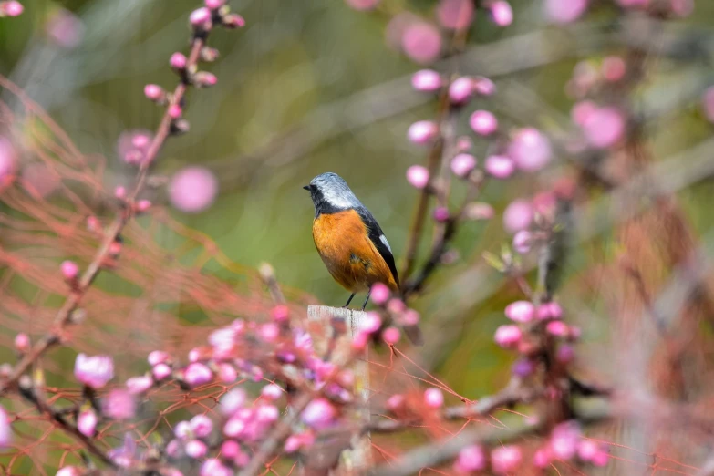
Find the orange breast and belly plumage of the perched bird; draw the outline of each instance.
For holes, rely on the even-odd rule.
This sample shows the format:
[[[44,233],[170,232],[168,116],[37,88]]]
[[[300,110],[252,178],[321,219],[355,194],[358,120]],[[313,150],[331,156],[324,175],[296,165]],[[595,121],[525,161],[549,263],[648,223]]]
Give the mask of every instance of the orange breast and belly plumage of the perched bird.
[[[375,283],[398,290],[387,262],[369,239],[356,211],[320,214],[313,222],[313,239],[327,270],[347,291],[365,292]]]

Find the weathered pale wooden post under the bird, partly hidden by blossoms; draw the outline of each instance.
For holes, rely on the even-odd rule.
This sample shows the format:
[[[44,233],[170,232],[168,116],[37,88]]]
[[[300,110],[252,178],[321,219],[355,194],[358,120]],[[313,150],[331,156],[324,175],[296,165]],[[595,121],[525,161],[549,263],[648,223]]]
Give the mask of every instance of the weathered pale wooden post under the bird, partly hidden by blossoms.
[[[325,356],[330,350],[330,342],[337,335],[347,333],[354,337],[359,326],[363,324],[367,313],[344,307],[329,307],[326,305],[310,305],[307,307],[307,320],[310,335],[313,337],[316,351]],[[360,421],[368,421],[369,412],[369,366],[367,354],[364,360],[357,360],[351,367],[355,374],[355,394],[359,412],[356,415]],[[357,474],[364,472],[372,460],[372,443],[368,434],[357,435],[353,440],[352,449],[342,452],[339,464],[340,474]]]

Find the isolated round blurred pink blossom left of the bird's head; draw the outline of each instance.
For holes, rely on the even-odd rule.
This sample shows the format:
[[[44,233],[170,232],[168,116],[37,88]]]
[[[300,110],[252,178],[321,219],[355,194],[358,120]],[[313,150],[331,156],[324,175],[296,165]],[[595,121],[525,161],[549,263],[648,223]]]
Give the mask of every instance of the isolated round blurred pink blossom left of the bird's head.
[[[218,193],[218,180],[203,167],[186,167],[176,172],[169,183],[169,201],[176,209],[198,213],[209,208]]]

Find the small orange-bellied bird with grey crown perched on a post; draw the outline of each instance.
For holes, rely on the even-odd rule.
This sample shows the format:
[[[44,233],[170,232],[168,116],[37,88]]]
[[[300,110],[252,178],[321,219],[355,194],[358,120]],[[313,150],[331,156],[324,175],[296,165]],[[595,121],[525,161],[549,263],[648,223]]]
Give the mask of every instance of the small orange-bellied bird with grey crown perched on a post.
[[[347,307],[357,293],[367,293],[372,285],[387,285],[399,294],[399,275],[387,236],[372,212],[357,199],[342,177],[334,172],[317,175],[303,187],[315,205],[313,240],[317,253],[335,281],[351,293]],[[405,327],[409,339],[419,344],[419,327]]]

